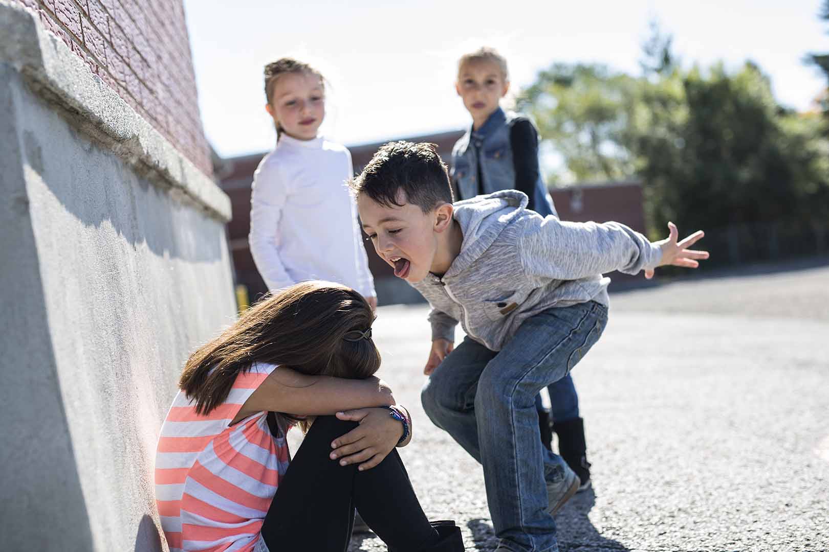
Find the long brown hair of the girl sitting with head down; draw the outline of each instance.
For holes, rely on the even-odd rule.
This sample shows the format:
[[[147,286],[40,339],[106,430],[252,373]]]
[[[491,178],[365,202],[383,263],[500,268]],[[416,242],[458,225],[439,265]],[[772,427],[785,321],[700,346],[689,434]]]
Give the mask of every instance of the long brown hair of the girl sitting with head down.
[[[369,377],[380,367],[380,352],[371,338],[349,336],[370,329],[373,321],[371,306],[350,287],[302,282],[259,300],[192,353],[178,386],[195,399],[196,412],[207,414],[254,362],[309,375]]]

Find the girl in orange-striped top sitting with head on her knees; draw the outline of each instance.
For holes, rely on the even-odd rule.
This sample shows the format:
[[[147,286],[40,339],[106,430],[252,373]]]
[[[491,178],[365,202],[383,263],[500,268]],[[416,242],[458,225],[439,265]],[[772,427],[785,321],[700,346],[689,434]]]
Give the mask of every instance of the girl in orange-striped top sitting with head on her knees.
[[[355,290],[304,282],[191,355],[156,457],[170,550],[342,551],[355,507],[391,550],[463,550],[453,522],[426,519],[395,451],[411,420],[373,376],[373,319]],[[307,434],[291,460],[293,423]]]

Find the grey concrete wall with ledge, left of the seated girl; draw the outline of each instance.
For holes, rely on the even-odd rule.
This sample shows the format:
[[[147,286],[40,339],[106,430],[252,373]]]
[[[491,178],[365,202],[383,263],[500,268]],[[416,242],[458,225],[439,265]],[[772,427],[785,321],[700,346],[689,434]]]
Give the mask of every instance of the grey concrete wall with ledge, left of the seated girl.
[[[158,430],[235,318],[216,185],[0,0],[2,550],[166,550]]]

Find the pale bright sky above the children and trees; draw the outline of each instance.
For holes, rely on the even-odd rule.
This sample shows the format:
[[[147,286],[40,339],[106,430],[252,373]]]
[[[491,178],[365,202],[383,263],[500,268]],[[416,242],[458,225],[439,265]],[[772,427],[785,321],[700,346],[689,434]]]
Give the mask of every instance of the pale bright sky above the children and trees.
[[[673,36],[685,66],[753,60],[780,103],[798,110],[826,86],[803,58],[829,52],[822,0],[597,2],[264,2],[184,0],[201,119],[220,156],[273,148],[262,70],[285,55],[327,79],[326,137],[347,146],[468,127],[454,90],[458,56],[506,55],[511,88],[553,63],[639,74],[649,22]]]

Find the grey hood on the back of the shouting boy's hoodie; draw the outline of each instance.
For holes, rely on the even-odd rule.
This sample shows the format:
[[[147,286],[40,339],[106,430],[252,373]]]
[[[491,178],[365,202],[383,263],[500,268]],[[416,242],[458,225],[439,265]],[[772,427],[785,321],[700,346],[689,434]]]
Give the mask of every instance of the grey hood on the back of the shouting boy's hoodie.
[[[444,277],[459,274],[487,251],[504,228],[527,212],[528,203],[523,192],[501,190],[453,204],[453,218],[460,224],[463,243]]]

